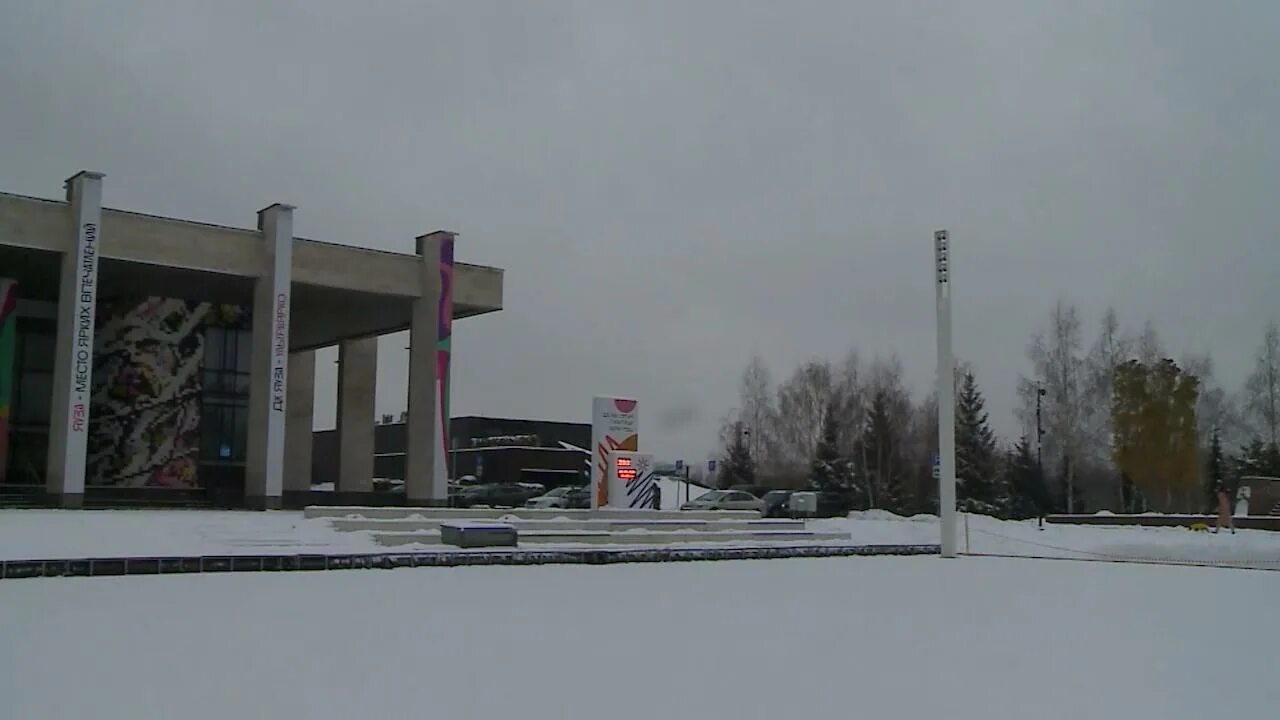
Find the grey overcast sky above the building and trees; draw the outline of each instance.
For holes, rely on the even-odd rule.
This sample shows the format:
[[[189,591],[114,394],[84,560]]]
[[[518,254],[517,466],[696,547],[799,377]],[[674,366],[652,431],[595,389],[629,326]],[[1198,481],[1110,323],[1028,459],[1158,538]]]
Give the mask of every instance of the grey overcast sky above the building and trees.
[[[1052,302],[1114,304],[1239,386],[1280,311],[1280,4],[0,0],[0,190],[506,269],[454,325],[454,414],[701,459],[754,351],[934,365],[1011,433]],[[404,406],[384,338],[379,409]],[[335,354],[317,425],[333,425]]]

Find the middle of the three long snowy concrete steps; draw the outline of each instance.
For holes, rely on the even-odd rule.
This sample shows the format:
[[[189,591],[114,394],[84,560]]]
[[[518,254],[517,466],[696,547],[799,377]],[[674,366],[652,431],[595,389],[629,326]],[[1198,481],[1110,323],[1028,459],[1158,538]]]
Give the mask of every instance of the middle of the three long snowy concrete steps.
[[[457,521],[457,519],[396,519],[396,520],[381,520],[381,519],[367,519],[367,518],[334,518],[329,520],[334,529],[342,532],[422,532],[422,530],[439,530],[440,524]],[[700,520],[698,518],[677,518],[672,520],[663,519],[625,519],[625,520],[522,520],[512,519],[504,520],[506,523],[515,525],[517,530],[534,532],[534,530],[600,530],[600,532],[621,532],[621,530],[704,530],[704,532],[727,532],[727,530],[803,530],[805,528],[804,520]]]

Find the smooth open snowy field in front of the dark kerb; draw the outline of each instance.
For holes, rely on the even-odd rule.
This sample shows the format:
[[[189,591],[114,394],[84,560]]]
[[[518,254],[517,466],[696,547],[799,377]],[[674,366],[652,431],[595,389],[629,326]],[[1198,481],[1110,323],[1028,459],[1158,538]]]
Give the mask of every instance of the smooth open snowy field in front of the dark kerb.
[[[861,557],[0,582],[5,719],[1275,717],[1280,573]]]

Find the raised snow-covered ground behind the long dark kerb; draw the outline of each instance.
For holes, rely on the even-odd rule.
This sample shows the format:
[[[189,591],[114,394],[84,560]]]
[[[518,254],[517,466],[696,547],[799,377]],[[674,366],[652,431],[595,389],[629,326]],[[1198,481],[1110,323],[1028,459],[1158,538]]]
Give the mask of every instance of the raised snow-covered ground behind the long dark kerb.
[[[672,495],[664,489],[663,505]],[[681,501],[682,498],[681,493]],[[964,536],[965,525],[969,530],[968,541]],[[847,519],[815,520],[810,527],[847,532],[851,536],[849,542],[854,544],[938,542],[938,520],[925,515],[900,518],[883,511],[868,511],[855,512]],[[970,516],[968,521],[960,523],[960,533],[961,551],[974,553],[1219,562],[1280,570],[1280,533],[1265,530],[1215,536],[1183,528],[1053,524],[1046,524],[1043,530],[1038,530],[1034,521],[1011,523]],[[440,547],[412,546],[397,550],[430,551]],[[308,520],[301,512],[292,511],[0,511],[0,559],[4,560],[387,551],[367,533],[338,532],[328,520]]]

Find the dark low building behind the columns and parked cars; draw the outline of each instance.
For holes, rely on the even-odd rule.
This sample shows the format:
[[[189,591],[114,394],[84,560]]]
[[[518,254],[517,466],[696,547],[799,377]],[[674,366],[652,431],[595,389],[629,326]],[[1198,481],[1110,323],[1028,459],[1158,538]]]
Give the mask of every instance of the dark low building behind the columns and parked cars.
[[[404,478],[408,447],[404,423],[374,428],[374,477]],[[474,477],[484,483],[532,482],[548,487],[585,484],[591,425],[511,418],[453,418],[449,420],[449,477]],[[338,433],[317,430],[312,439],[312,484],[338,482]]]

